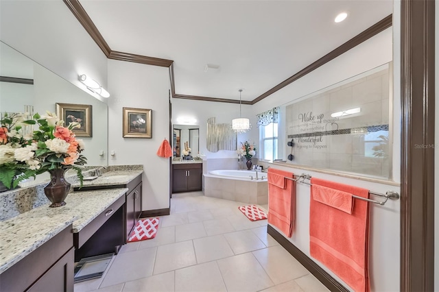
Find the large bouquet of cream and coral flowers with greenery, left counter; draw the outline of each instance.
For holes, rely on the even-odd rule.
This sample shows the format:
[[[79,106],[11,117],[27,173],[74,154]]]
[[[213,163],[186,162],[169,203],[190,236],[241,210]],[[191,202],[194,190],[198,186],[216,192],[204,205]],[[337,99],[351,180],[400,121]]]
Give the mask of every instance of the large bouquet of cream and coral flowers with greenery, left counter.
[[[64,127],[64,121],[51,112],[45,116],[34,114],[33,119],[25,116],[5,114],[0,120],[0,182],[11,189],[45,171],[75,169],[82,185],[79,166],[86,163],[80,154],[84,143],[72,131],[78,123]],[[38,130],[23,136],[23,127],[29,125],[38,125]]]

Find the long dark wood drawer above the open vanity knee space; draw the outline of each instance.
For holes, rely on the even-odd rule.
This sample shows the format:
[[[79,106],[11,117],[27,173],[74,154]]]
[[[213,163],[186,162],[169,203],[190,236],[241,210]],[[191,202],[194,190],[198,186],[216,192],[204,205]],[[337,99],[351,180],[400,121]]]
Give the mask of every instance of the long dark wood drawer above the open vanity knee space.
[[[93,221],[87,224],[80,232],[73,233],[75,248],[80,248],[110,217],[125,204],[125,195],[122,195],[104,212],[99,214]]]

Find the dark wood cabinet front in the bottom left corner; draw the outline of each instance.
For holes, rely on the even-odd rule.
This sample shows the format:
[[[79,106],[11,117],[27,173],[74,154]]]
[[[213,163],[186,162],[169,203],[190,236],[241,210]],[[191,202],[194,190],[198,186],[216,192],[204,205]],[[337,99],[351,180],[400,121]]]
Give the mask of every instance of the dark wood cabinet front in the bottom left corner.
[[[71,291],[75,256],[72,226],[0,274],[0,291]]]

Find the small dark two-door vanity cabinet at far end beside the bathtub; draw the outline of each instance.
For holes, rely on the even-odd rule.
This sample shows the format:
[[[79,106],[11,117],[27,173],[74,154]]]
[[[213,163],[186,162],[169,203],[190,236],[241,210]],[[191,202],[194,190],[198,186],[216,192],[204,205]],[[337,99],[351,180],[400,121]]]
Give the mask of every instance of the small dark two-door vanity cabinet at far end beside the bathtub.
[[[172,193],[202,190],[202,163],[172,165]]]

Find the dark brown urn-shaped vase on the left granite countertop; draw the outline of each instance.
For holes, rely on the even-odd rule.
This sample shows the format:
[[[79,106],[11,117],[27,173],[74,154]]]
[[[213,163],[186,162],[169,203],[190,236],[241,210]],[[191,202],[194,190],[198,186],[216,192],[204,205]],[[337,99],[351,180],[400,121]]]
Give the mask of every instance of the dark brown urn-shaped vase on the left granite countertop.
[[[70,191],[70,184],[65,180],[64,173],[67,169],[53,169],[49,170],[50,182],[45,186],[44,193],[47,199],[52,203],[49,207],[64,206],[66,202],[64,199]]]

